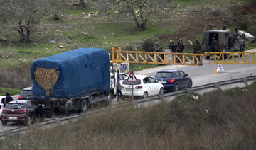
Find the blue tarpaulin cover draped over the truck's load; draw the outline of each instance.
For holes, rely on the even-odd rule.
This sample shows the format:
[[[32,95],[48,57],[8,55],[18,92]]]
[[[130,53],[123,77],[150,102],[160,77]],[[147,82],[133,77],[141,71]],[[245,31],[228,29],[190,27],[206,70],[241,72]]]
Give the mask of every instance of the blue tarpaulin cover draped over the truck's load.
[[[107,50],[100,48],[80,48],[62,54],[38,59],[31,65],[33,96],[38,98],[77,98],[92,92],[109,91],[110,61]],[[53,68],[59,71],[59,77],[52,89],[52,95],[46,96],[46,90],[39,86],[34,78],[36,67]]]

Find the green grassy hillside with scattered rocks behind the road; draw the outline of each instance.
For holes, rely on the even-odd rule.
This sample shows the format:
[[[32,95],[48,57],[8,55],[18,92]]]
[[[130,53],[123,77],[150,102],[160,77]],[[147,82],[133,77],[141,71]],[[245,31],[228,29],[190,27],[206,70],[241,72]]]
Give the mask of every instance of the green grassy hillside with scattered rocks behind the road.
[[[159,8],[149,16],[146,30],[137,30],[129,16],[100,9],[100,0],[85,1],[85,7],[68,6],[68,2],[78,1],[65,1],[58,10],[60,19],[45,16],[35,26],[28,44],[19,42],[18,32],[9,28],[12,25],[0,23],[0,37],[6,39],[0,42],[0,86],[18,89],[31,86],[29,68],[34,60],[80,47],[100,47],[110,52],[111,47],[121,46],[122,50],[142,51],[144,43],[158,41],[167,48],[170,39],[178,42],[181,38],[185,52],[193,52],[188,40],[201,40],[203,30],[227,26],[256,35],[253,0],[152,1]],[[255,43],[246,48],[252,47],[256,47]]]

